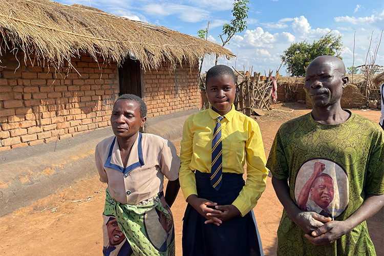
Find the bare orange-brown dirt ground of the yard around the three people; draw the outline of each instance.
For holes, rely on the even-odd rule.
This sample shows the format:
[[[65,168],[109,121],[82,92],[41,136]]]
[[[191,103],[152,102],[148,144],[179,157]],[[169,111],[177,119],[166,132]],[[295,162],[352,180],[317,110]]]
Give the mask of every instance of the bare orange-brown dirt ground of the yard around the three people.
[[[256,117],[263,136],[268,156],[279,126],[294,117],[308,113],[304,105],[279,103],[265,111],[265,116]],[[352,110],[374,121],[380,112],[375,110]],[[180,150],[180,143],[175,143]],[[95,170],[95,174],[96,174]],[[102,211],[106,185],[98,176],[73,184],[56,194],[20,208],[0,218],[0,255],[101,255]],[[181,252],[182,216],[186,203],[179,191],[172,206],[175,217],[176,255]],[[261,233],[265,255],[275,255],[279,225],[283,207],[276,197],[271,179],[258,205],[253,209]],[[384,209],[368,221],[377,255],[384,255]]]

